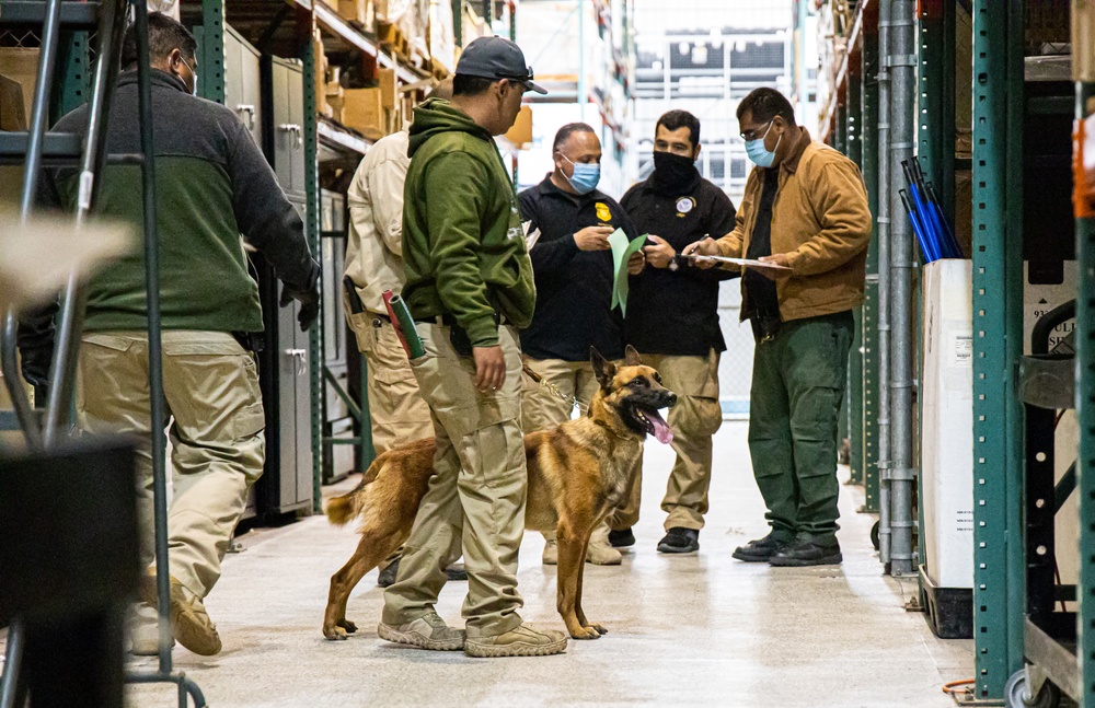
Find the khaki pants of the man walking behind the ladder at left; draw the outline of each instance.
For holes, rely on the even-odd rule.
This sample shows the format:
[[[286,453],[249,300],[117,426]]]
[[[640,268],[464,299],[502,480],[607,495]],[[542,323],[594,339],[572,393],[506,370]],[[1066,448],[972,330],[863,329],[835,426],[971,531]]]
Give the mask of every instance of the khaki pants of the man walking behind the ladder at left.
[[[266,418],[258,369],[230,334],[164,332],[163,396],[172,444],[169,567],[187,589],[205,597],[220,578],[247,489],[263,474]],[[84,335],[77,415],[85,433],[151,433],[145,333]],[[150,449],[142,448],[137,460],[138,511],[145,530],[141,560],[151,565]]]

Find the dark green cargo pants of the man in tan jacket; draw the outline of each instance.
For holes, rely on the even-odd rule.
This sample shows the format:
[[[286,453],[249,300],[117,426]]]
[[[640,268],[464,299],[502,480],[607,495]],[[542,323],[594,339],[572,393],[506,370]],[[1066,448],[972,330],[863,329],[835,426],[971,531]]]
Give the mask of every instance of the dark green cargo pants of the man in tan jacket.
[[[844,396],[851,312],[785,323],[758,341],[749,452],[772,530],[785,538],[837,532],[837,422]]]

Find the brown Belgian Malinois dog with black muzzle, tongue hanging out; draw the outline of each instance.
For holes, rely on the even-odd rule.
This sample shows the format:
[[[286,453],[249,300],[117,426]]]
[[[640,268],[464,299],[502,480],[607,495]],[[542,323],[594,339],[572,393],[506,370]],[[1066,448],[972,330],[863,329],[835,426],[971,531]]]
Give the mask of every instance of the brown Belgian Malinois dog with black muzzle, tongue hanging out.
[[[677,404],[650,367],[627,347],[616,367],[596,349],[590,360],[599,390],[583,417],[554,430],[525,437],[529,490],[525,526],[554,531],[558,543],[556,607],[575,639],[597,639],[608,630],[588,622],[581,611],[581,574],[586,546],[598,523],[631,489],[631,471],[654,434],[668,444],[672,432],[658,413]],[[357,550],[331,577],[323,636],[346,639],[357,631],[346,619],[346,601],[365,573],[376,568],[411,535],[415,514],[434,474],[433,438],[408,443],[377,457],[358,487],[327,502],[327,519],[345,524],[360,515]]]

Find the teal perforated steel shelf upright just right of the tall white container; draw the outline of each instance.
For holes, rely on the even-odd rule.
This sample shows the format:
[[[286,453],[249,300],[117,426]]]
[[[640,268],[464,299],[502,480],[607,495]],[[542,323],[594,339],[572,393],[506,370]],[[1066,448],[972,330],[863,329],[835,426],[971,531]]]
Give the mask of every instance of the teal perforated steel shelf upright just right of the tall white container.
[[[1022,0],[973,5],[973,637],[976,697],[1023,665]]]

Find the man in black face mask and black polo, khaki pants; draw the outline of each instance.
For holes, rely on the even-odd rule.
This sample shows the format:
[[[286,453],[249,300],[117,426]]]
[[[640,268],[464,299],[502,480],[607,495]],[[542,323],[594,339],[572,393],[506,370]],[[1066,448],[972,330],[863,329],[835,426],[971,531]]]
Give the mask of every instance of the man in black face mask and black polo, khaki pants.
[[[718,283],[734,275],[701,270],[679,254],[704,234],[733,229],[735,209],[722,189],[700,176],[699,155],[700,121],[685,111],[670,111],[657,123],[654,173],[622,200],[638,232],[650,234],[654,242],[644,248],[653,267],[631,279],[625,337],[680,396],[669,410],[677,464],[661,502],[669,514],[658,544],[661,553],[700,548],[711,486],[711,437],[723,421],[718,357],[726,344],[718,326]],[[631,526],[638,521],[641,489],[637,469],[626,508],[610,519],[613,545],[635,541]]]

